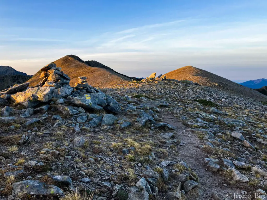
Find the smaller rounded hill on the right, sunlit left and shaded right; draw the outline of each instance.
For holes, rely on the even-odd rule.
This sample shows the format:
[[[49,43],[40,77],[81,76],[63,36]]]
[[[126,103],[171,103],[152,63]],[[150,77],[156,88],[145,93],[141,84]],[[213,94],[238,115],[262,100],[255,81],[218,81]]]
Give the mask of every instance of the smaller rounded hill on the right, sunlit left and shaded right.
[[[257,93],[255,90],[193,66],[185,66],[174,71],[170,71],[164,75],[166,75],[166,78],[190,80],[197,82],[200,85],[214,87],[260,101],[267,100],[265,95]]]

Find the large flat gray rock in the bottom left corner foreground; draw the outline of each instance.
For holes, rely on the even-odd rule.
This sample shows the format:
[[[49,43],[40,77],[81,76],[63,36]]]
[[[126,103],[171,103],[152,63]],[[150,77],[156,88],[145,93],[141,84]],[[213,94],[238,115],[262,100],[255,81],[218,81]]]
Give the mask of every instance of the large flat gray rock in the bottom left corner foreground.
[[[40,181],[26,180],[13,183],[13,190],[17,193],[25,193],[30,195],[52,195],[62,196],[63,191],[54,185],[46,185]]]

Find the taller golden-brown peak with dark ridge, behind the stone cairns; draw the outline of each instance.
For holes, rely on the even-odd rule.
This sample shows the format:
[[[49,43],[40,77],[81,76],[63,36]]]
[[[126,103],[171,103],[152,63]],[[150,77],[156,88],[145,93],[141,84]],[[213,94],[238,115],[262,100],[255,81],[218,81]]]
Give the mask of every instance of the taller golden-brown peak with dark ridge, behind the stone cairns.
[[[63,58],[54,61],[54,63],[57,67],[61,67],[61,70],[70,77],[70,86],[74,86],[79,76],[87,77],[88,84],[94,87],[108,87],[132,81],[131,77],[117,73],[99,62],[84,62],[75,55],[66,55]],[[93,66],[89,66],[88,64],[92,64]],[[40,74],[41,70],[33,75],[33,77],[29,80],[30,86],[34,86],[39,83]]]

